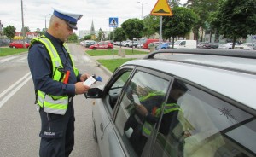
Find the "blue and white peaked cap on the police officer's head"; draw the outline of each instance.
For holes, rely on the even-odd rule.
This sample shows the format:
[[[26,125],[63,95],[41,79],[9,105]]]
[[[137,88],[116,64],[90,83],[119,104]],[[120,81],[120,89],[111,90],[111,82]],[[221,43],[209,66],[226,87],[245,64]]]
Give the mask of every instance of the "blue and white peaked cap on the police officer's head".
[[[67,22],[67,25],[71,28],[77,30],[77,22],[82,18],[83,15],[76,14],[76,13],[70,13],[65,10],[61,9],[55,9],[53,15],[57,16],[58,18],[65,20]]]

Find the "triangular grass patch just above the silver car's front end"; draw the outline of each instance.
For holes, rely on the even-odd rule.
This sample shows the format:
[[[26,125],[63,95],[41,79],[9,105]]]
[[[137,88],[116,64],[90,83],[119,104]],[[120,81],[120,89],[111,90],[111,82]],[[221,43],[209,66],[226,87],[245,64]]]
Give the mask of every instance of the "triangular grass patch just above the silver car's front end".
[[[108,68],[109,71],[114,72],[117,67],[120,67],[126,61],[135,60],[135,58],[127,59],[111,59],[111,60],[97,60],[102,66]]]

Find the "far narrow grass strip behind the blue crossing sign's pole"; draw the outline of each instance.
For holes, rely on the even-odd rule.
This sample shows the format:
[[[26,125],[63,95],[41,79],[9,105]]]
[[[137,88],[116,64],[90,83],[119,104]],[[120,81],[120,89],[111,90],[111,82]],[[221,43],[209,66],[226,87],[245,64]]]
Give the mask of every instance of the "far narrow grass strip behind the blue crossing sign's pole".
[[[125,55],[143,55],[148,54],[148,52],[140,51],[140,50],[133,50],[132,49],[124,49]],[[99,55],[117,55],[118,49],[96,49],[96,50],[86,50],[86,53],[90,56],[99,56]],[[113,54],[112,54],[113,53]]]

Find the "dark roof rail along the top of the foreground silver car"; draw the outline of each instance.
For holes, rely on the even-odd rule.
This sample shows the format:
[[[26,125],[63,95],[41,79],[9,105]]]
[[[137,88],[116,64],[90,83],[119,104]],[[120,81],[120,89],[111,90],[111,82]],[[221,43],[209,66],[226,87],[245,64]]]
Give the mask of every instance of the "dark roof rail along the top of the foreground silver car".
[[[146,55],[143,59],[154,59],[157,54],[189,54],[189,55],[219,55],[238,58],[256,59],[256,51],[240,49],[160,49]]]

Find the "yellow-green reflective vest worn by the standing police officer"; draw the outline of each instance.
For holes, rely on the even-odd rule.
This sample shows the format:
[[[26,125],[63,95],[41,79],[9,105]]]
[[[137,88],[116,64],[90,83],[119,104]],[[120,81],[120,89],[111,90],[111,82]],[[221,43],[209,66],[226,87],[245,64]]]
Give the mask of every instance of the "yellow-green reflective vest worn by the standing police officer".
[[[31,46],[35,42],[44,44],[45,48],[49,52],[49,56],[52,61],[52,72],[53,72],[52,78],[56,81],[63,81],[63,78],[65,78],[65,75],[63,78],[61,78],[62,73],[59,70],[63,68],[63,65],[61,63],[61,58],[57,50],[55,49],[55,46],[51,43],[51,41],[48,38],[45,38],[44,35],[39,38],[33,38],[31,42]],[[64,47],[67,50],[67,53],[69,54],[73,64],[73,59],[70,55],[67,44],[64,44]],[[74,64],[73,64],[73,71],[75,75],[78,76],[79,71],[77,68],[74,67]],[[44,93],[44,91],[41,91],[41,90],[37,90],[36,94],[38,95],[37,103],[41,108],[44,108],[44,112],[61,114],[61,115],[64,115],[66,113],[67,105],[68,105],[68,96],[52,96]]]

